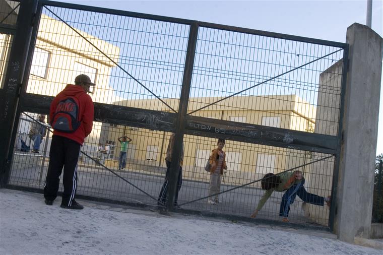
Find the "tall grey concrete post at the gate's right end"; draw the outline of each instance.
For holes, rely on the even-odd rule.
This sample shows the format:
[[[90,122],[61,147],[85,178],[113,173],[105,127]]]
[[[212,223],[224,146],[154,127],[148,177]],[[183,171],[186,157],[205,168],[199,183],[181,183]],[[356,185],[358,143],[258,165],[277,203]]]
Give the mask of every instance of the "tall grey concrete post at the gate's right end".
[[[350,44],[334,231],[342,241],[369,238],[383,39],[357,23]]]

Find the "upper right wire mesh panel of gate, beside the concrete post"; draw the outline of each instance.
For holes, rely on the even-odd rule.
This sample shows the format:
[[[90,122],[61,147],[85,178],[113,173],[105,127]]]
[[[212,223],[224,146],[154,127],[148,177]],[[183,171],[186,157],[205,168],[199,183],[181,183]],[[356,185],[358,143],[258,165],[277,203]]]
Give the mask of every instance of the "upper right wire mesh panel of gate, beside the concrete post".
[[[342,57],[340,47],[200,27],[188,114],[327,134],[342,78],[328,69]]]

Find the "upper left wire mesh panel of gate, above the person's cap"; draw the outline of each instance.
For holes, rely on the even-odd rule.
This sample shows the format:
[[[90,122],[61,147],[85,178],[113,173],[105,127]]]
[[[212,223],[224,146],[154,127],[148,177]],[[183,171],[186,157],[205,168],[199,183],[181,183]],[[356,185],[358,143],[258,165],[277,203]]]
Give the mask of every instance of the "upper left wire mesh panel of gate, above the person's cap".
[[[27,92],[53,96],[85,73],[96,84],[94,102],[174,112],[188,31],[183,24],[44,6]]]

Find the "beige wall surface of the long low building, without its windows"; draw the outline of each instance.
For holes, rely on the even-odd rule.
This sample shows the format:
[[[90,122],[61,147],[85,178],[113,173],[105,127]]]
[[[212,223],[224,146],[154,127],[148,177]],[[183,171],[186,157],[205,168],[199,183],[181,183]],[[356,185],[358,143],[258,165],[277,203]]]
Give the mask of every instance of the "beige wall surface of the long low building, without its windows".
[[[213,102],[213,98],[190,98],[191,102],[189,104],[188,111],[192,111],[197,109],[197,107],[201,106],[201,104],[197,105],[195,102]],[[259,100],[261,103],[259,103]],[[232,103],[241,103],[241,105],[237,105],[238,108],[244,108],[243,105],[247,105],[253,103],[254,105],[258,105],[257,107],[253,107],[257,110],[226,110],[226,107],[217,107],[217,109],[204,109],[198,111],[198,116],[211,117],[216,119],[224,119],[230,120],[230,116],[242,116],[245,118],[246,123],[252,124],[262,124],[262,117],[268,116],[273,117],[277,116],[280,118],[280,127],[284,129],[293,129],[300,131],[307,131],[307,126],[310,123],[314,126],[313,118],[315,117],[314,111],[315,108],[311,107],[311,110],[304,109],[302,107],[296,107],[294,101],[290,102],[288,100],[295,100],[297,103],[302,104],[302,100],[300,100],[295,95],[282,95],[282,96],[270,96],[270,97],[233,97],[231,98]],[[176,107],[178,100],[176,99],[167,99],[167,103],[169,103],[172,107]],[[256,103],[258,102],[258,103]],[[164,104],[162,104],[159,100],[155,99],[145,99],[145,100],[124,100],[117,102],[119,105],[131,106],[131,107],[141,107],[141,108],[150,108],[156,109],[161,108],[163,110],[166,109]],[[303,105],[307,105],[303,102]],[[281,109],[282,107],[286,107],[285,109]],[[295,110],[302,110],[302,114],[298,114]],[[310,116],[311,118],[307,118]],[[117,141],[117,138],[123,135],[123,126],[117,126],[109,130],[108,140]],[[132,145],[135,146],[135,160],[136,163],[144,163],[148,165],[156,164],[157,166],[165,167],[165,153],[168,144],[168,139],[170,133],[157,132],[157,131],[149,131],[145,129],[139,129],[138,131],[132,131],[126,129],[125,135],[132,138]],[[165,135],[164,135],[165,134]],[[217,140],[213,138],[205,138],[205,137],[197,137],[197,136],[184,136],[184,163],[183,163],[183,177],[188,179],[195,180],[205,180],[208,181],[209,175],[206,174],[203,167],[199,167],[196,165],[196,154],[198,150],[208,150],[211,151],[216,148]],[[145,156],[147,153],[147,146],[153,145],[158,147],[158,153],[155,163],[149,162],[145,160]],[[120,147],[119,145],[116,148],[115,159],[117,160],[119,154]],[[128,149],[129,150],[129,149]],[[161,151],[162,150],[162,151]],[[281,172],[289,168],[296,167],[297,165],[301,165],[304,162],[308,162],[308,159],[305,158],[303,152],[291,152],[292,150],[283,149],[283,148],[274,148],[271,146],[263,146],[257,144],[247,144],[236,141],[227,141],[226,146],[224,148],[227,154],[227,161],[229,169],[225,173],[223,178],[223,183],[228,184],[245,184],[249,181],[256,180],[262,178],[262,176],[266,172],[258,173],[257,166],[263,166],[265,162],[257,162],[259,158],[259,154],[265,155],[274,155],[275,164],[270,166],[267,169],[268,172]],[[230,154],[235,154],[237,158],[230,162]],[[204,159],[201,159],[204,160]],[[207,159],[206,159],[207,160]],[[235,161],[235,162],[234,162]],[[200,163],[201,164],[201,163]],[[237,169],[230,169],[230,165],[234,166]],[[265,169],[264,169],[265,170]],[[266,171],[266,170],[265,170]],[[306,167],[305,171],[309,171],[309,168]],[[259,183],[254,184],[256,186]]]

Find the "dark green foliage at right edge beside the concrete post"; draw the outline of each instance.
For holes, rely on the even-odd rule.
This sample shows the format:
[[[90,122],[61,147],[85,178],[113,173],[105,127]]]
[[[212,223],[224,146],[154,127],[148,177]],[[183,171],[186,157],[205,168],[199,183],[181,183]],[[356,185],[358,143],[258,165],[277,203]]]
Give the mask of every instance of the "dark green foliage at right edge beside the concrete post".
[[[380,160],[383,160],[383,154],[377,155],[375,159],[375,169],[374,169],[375,179],[374,179],[374,196],[373,196],[373,202],[372,202],[372,222],[383,223],[383,172],[381,173],[382,176],[380,176],[380,179],[379,179]]]

